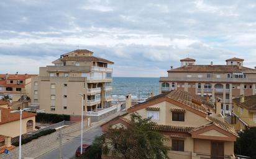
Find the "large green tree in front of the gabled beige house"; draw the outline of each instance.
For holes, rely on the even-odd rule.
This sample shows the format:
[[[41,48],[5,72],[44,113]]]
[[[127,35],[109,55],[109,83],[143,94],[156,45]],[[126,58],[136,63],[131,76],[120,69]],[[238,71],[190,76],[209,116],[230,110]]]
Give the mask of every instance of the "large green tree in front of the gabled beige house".
[[[165,146],[168,138],[153,130],[153,126],[156,123],[151,119],[131,114],[127,126],[109,127],[104,134],[103,153],[124,159],[168,158],[170,147]]]

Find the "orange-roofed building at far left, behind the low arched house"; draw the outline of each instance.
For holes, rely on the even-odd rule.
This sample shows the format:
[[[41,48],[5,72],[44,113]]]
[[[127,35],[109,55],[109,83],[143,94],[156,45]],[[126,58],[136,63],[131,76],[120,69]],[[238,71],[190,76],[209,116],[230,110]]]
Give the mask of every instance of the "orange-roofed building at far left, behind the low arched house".
[[[0,98],[9,95],[17,101],[22,95],[31,97],[31,77],[34,74],[0,74]]]

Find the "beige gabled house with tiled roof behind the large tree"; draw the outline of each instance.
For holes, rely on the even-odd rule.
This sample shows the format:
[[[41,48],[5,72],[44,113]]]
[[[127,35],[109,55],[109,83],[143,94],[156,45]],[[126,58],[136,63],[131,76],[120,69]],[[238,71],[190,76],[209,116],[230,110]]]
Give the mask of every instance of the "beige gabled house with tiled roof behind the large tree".
[[[126,126],[131,113],[157,123],[152,129],[169,138],[166,142],[171,147],[169,158],[234,158],[237,133],[220,114],[219,98],[215,107],[199,95],[171,90],[128,108],[126,114],[103,124],[103,131],[109,126]]]

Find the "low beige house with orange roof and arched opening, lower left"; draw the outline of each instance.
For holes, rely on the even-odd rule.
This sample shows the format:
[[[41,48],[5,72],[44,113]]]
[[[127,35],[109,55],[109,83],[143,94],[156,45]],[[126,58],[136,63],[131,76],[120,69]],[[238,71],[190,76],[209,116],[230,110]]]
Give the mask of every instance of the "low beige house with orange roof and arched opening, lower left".
[[[0,153],[4,148],[13,148],[11,138],[20,134],[20,113],[11,113],[11,109],[0,107]],[[22,134],[35,130],[35,114],[22,113]]]

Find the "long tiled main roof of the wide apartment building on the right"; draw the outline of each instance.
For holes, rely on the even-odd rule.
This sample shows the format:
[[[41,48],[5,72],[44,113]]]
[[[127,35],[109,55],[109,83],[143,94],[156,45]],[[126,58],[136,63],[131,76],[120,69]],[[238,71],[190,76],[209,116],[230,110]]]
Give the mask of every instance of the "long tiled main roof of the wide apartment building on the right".
[[[255,69],[237,65],[186,65],[167,72],[256,72]]]

